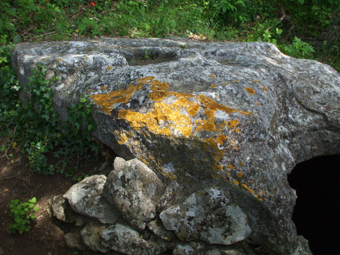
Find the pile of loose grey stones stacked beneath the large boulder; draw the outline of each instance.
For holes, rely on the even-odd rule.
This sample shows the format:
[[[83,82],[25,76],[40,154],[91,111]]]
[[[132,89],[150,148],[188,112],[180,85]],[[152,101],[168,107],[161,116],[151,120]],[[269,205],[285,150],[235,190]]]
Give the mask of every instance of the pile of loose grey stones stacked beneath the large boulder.
[[[228,190],[176,181],[166,186],[137,159],[116,157],[108,177],[87,177],[50,205],[57,219],[79,226],[65,235],[71,248],[131,255],[256,254],[246,242],[247,215]]]

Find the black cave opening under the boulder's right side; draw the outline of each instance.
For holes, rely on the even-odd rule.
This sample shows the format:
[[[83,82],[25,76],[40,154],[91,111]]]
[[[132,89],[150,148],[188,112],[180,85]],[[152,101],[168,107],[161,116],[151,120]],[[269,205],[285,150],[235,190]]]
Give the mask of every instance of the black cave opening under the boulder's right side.
[[[313,255],[340,254],[340,155],[297,164],[288,175],[297,200],[292,220]]]

